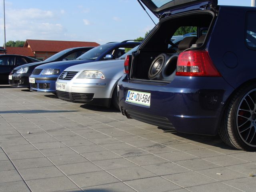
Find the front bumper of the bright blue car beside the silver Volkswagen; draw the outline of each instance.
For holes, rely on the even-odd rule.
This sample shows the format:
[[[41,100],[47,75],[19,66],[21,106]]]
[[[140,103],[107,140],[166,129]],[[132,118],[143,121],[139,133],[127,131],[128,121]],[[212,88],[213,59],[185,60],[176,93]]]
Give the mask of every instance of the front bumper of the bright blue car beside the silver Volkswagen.
[[[35,83],[30,83],[31,90],[51,93],[56,92],[55,82],[58,79],[58,75],[31,75],[30,78],[35,79]]]

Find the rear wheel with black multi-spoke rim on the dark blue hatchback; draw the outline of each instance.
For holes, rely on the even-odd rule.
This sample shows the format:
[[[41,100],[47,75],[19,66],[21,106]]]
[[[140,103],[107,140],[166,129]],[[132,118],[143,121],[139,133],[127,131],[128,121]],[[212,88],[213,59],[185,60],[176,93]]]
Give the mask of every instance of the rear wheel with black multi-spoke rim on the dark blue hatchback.
[[[256,151],[256,85],[246,84],[230,100],[219,129],[226,144]]]

